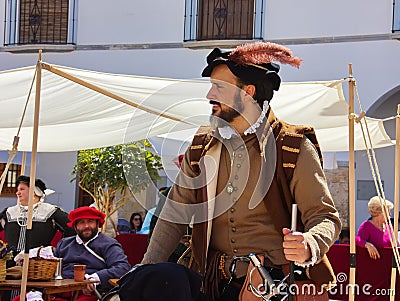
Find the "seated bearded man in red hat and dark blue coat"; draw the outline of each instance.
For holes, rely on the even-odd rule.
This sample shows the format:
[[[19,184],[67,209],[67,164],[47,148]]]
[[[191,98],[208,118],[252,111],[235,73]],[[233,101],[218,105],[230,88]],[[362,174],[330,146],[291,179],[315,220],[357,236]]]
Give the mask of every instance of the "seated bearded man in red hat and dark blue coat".
[[[74,278],[74,265],[86,265],[86,279],[99,281],[96,288],[99,292],[111,289],[109,279],[119,278],[129,271],[130,265],[121,245],[111,237],[99,232],[104,224],[105,214],[92,207],[80,207],[72,210],[68,226],[75,229],[77,235],[62,239],[54,252],[63,259],[63,278]],[[94,285],[88,284],[77,300],[94,301]],[[69,299],[71,293],[61,297]]]

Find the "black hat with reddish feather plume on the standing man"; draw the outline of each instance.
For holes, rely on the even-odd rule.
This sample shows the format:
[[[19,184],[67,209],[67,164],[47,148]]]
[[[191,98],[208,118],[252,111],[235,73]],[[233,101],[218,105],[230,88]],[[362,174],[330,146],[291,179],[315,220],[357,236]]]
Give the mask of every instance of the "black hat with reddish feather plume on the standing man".
[[[274,61],[300,66],[301,60],[292,57],[289,49],[274,43],[254,42],[236,47],[232,51],[221,51],[214,48],[207,56],[207,66],[202,72],[209,77],[212,70],[221,64],[226,65],[238,78],[244,81],[268,80],[274,90],[278,90],[281,78],[278,75],[280,66]]]

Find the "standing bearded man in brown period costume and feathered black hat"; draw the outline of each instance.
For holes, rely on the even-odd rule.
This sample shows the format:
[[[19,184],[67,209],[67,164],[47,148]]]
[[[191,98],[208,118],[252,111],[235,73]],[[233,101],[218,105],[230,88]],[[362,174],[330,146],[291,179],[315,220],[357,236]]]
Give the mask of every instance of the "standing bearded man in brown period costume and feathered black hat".
[[[275,280],[294,262],[298,281],[334,281],[325,254],[339,235],[339,215],[313,129],[287,124],[270,108],[281,82],[276,62],[302,61],[264,42],[208,55],[202,76],[211,81],[211,126],[201,127],[187,150],[143,259],[166,261],[192,222],[191,268],[205,276],[214,300],[246,299],[238,295],[248,291],[249,253]],[[289,229],[292,204],[296,232]],[[327,300],[326,292],[318,297]]]

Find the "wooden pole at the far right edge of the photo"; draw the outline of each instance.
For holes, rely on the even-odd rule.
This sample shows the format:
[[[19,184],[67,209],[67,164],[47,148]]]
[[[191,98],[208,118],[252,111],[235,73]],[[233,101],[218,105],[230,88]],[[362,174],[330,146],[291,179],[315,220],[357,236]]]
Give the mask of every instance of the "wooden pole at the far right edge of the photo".
[[[395,246],[397,246],[398,241],[398,231],[399,231],[399,181],[400,181],[400,105],[397,105],[397,116],[396,116],[396,150],[395,150],[395,167],[394,167],[394,213],[393,213],[393,238]],[[393,254],[395,256],[395,254]],[[390,301],[395,299],[396,291],[396,276],[397,276],[397,266],[396,260],[392,260],[392,275],[390,279]]]

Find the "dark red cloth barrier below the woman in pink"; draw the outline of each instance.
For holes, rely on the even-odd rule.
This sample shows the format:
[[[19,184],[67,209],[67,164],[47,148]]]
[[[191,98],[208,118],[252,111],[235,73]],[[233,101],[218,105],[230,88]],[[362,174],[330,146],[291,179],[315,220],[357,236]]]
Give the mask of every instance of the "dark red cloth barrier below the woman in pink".
[[[356,287],[355,300],[389,300],[390,278],[392,270],[392,249],[378,249],[380,259],[373,260],[369,257],[365,248],[356,248]],[[348,286],[350,278],[350,246],[333,245],[328,258],[336,274],[337,286],[331,290],[330,298],[336,300],[348,300]],[[396,292],[400,292],[400,276],[397,273]],[[396,294],[395,300],[400,301],[400,294]]]

